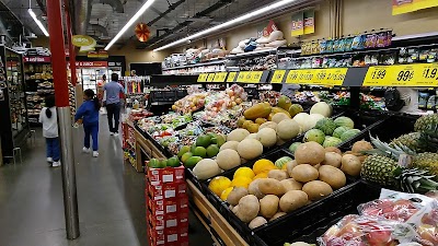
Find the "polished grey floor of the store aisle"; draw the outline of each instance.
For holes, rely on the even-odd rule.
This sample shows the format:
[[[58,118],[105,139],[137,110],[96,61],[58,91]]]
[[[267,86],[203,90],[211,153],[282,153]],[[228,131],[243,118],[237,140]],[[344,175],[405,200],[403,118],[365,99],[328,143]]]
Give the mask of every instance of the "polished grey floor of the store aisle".
[[[73,129],[79,200],[78,239],[66,239],[61,169],[45,162],[41,130],[23,149],[22,164],[0,167],[0,246],[146,246],[143,175],[124,164],[119,138],[101,118],[100,156],[80,152],[82,130]],[[212,245],[191,215],[191,246]]]

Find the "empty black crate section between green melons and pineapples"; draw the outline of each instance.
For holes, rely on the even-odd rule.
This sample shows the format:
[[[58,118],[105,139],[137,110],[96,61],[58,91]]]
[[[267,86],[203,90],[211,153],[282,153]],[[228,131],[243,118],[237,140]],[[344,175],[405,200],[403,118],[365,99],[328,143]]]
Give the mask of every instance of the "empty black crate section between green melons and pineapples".
[[[341,150],[351,150],[353,144],[360,140],[370,141],[370,134],[374,138],[379,137],[381,141],[390,142],[402,134],[413,132],[414,125],[417,119],[418,116],[413,115],[388,115],[388,117],[384,117],[379,122],[364,130],[360,132],[360,134],[348,140],[347,142],[344,142],[341,147]]]

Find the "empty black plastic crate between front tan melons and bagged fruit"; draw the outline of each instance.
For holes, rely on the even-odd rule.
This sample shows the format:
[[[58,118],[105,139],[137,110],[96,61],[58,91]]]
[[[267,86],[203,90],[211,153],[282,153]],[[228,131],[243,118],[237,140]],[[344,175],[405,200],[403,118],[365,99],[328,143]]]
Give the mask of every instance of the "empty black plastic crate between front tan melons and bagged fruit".
[[[378,199],[380,187],[356,181],[326,199],[314,202],[267,225],[254,230],[257,245],[283,246],[284,243],[316,243],[316,237],[347,214],[357,214],[357,206]]]

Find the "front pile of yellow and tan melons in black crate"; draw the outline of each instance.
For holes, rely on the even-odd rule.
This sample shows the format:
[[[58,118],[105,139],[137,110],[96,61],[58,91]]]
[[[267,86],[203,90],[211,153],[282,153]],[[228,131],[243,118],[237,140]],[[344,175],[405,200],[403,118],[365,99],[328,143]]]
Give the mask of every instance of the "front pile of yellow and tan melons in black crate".
[[[273,163],[262,159],[252,169],[238,168],[233,180],[215,177],[209,188],[241,221],[255,229],[344,187],[345,173],[356,174],[358,167],[360,172],[360,162],[350,155],[308,142],[297,148],[295,160],[281,157]]]

